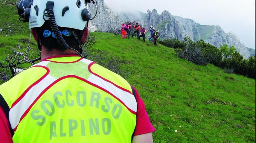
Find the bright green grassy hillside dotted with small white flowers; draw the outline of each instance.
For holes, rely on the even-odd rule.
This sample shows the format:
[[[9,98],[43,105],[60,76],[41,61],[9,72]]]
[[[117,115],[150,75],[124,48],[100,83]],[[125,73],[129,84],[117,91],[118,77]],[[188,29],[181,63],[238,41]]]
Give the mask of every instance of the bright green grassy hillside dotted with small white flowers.
[[[5,8],[14,10],[13,6]],[[0,12],[2,19],[4,10]],[[27,25],[10,19],[15,11],[6,13],[5,21],[21,23],[21,28],[14,26],[21,30],[10,36],[0,32],[1,59],[10,46],[25,46],[22,39],[29,39]],[[0,28],[5,25],[2,22]],[[143,43],[136,37],[127,40],[110,33],[94,34],[97,43],[90,53],[122,60],[120,68],[132,72],[128,81],[145,102],[156,128],[155,143],[255,142],[255,80],[226,74],[211,64],[195,65],[178,58],[171,48]]]

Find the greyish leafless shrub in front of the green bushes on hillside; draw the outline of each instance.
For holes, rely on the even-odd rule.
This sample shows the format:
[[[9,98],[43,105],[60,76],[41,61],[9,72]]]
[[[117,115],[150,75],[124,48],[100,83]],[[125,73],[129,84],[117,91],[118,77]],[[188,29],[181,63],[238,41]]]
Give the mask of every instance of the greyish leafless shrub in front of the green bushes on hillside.
[[[185,49],[176,50],[178,57],[187,59],[187,61],[193,62],[198,65],[207,65],[207,59],[204,58],[199,47],[187,46]]]

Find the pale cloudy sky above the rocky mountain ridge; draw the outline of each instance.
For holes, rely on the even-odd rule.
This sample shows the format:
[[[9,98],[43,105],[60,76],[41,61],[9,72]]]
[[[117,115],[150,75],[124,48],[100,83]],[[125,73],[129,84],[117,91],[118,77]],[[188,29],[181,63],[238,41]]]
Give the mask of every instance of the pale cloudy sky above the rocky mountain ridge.
[[[104,0],[114,11],[156,9],[172,15],[190,18],[202,25],[219,25],[225,32],[232,31],[245,44],[255,49],[255,0]]]

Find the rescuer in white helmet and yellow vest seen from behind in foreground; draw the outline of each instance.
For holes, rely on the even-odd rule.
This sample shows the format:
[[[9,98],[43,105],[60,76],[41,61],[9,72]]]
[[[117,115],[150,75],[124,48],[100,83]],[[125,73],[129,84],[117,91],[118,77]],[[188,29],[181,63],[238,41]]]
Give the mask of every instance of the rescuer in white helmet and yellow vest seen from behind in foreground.
[[[20,2],[41,61],[0,85],[0,142],[153,142],[155,129],[136,89],[81,57],[90,2]]]

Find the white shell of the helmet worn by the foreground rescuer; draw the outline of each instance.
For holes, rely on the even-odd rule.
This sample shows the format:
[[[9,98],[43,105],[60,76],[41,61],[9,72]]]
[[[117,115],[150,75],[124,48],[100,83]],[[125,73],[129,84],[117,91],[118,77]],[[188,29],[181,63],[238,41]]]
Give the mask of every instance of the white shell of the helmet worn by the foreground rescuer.
[[[44,9],[49,0],[34,0],[30,9],[29,29],[41,27],[44,24]],[[54,2],[53,12],[55,15],[56,24],[60,27],[68,27],[73,29],[83,30],[87,21],[82,20],[82,10],[87,8],[85,0],[80,0],[80,7],[77,6],[78,0],[51,0]],[[35,5],[38,6],[38,15],[36,14]],[[62,9],[66,6],[69,10],[62,17]],[[48,17],[44,17],[48,20]]]

